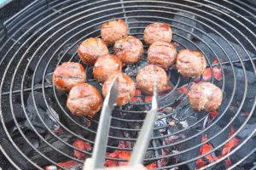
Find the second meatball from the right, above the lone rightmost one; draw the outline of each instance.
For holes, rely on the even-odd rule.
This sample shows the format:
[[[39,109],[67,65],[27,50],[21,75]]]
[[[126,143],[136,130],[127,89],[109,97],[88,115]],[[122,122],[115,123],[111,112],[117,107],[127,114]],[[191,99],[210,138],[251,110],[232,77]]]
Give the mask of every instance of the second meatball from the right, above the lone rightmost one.
[[[207,61],[200,51],[182,49],[177,54],[177,71],[183,77],[198,77],[207,69]]]

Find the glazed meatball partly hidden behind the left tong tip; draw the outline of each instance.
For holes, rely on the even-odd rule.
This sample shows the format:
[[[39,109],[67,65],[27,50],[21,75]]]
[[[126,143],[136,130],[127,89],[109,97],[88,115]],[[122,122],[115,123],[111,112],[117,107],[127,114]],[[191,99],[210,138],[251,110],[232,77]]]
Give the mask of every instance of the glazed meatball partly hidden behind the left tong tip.
[[[108,89],[111,87],[114,77],[116,77],[116,75],[108,77],[108,80],[104,82],[102,87],[102,94],[104,97],[107,96]],[[119,82],[119,94],[116,103],[117,105],[125,105],[131,101],[131,98],[135,94],[135,83],[133,82],[131,77],[128,77],[125,73],[119,73],[119,76],[117,77],[116,81]]]

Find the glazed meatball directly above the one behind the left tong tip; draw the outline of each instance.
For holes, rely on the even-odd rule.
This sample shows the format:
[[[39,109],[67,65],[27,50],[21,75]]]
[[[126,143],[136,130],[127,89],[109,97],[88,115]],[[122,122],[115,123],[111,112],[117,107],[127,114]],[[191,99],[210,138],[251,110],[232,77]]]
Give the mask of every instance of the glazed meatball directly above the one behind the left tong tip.
[[[97,82],[105,82],[109,76],[116,75],[121,69],[122,62],[115,55],[102,55],[93,67],[93,77]]]

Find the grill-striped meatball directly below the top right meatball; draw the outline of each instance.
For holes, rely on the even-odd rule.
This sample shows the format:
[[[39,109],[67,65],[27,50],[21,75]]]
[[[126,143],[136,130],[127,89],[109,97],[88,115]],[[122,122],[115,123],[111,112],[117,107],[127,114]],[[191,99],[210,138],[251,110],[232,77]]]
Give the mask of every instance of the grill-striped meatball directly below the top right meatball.
[[[176,46],[172,42],[154,42],[148,48],[148,62],[168,70],[177,59]]]

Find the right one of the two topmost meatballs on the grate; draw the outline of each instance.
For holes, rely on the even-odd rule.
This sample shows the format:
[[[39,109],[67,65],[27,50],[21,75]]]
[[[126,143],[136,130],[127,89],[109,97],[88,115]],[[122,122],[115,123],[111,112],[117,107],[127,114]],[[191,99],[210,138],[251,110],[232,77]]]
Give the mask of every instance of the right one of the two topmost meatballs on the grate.
[[[156,41],[171,42],[172,29],[165,23],[153,23],[146,26],[143,38],[148,45]]]

